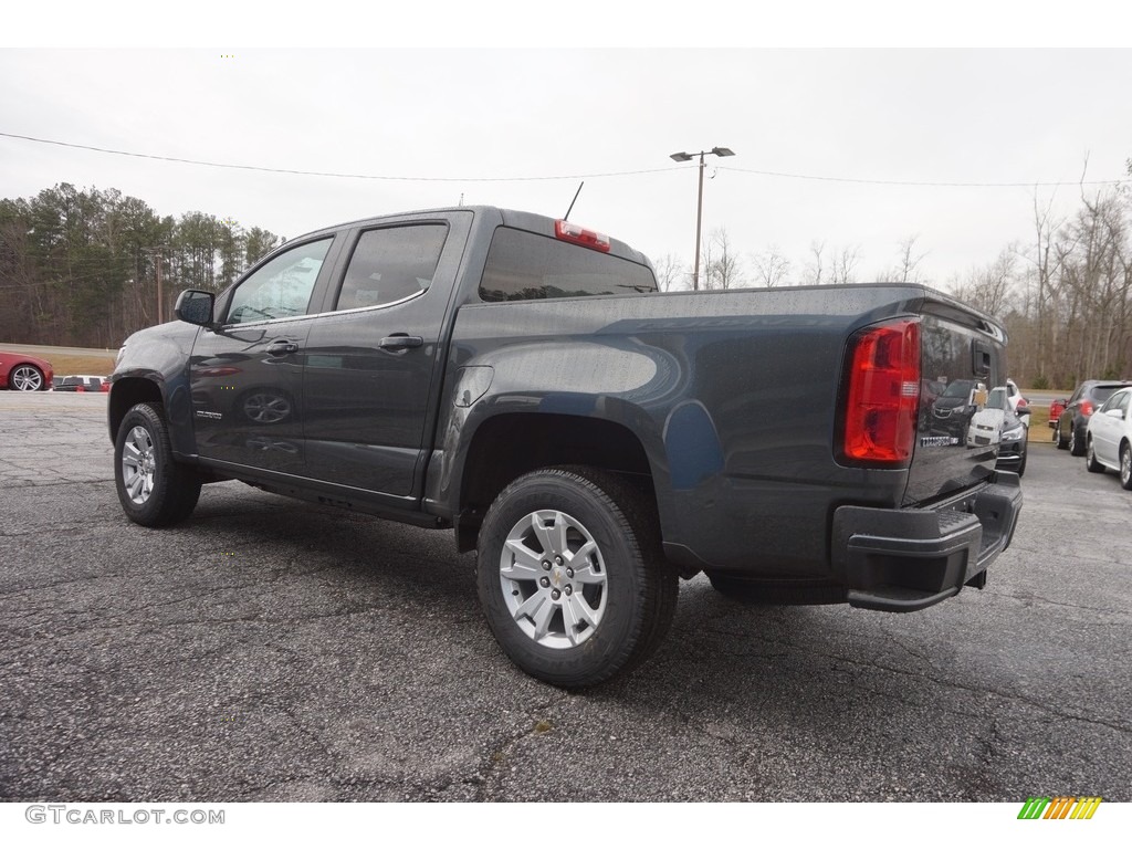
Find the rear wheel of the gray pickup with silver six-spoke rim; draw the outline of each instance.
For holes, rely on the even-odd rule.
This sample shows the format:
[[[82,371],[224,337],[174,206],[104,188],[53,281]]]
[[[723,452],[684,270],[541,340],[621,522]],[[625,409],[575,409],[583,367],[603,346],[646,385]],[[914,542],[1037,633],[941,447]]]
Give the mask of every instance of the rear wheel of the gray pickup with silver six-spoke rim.
[[[507,657],[567,688],[649,658],[679,591],[651,498],[589,468],[531,472],[499,494],[480,529],[477,582]]]

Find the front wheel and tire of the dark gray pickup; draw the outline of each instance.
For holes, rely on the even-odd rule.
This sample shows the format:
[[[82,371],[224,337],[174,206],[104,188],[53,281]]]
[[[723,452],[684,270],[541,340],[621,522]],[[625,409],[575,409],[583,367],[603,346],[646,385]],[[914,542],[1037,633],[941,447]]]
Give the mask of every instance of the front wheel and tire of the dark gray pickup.
[[[114,483],[131,522],[146,528],[182,522],[197,506],[201,482],[195,469],[173,460],[161,404],[136,404],[126,413],[114,440]]]

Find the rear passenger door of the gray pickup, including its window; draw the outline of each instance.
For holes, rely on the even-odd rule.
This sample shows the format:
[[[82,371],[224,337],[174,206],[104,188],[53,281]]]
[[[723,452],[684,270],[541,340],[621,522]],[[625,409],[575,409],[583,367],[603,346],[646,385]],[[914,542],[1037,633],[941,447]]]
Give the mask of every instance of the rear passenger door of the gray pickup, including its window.
[[[388,496],[419,495],[436,414],[445,317],[472,213],[361,228],[307,341],[307,474]]]

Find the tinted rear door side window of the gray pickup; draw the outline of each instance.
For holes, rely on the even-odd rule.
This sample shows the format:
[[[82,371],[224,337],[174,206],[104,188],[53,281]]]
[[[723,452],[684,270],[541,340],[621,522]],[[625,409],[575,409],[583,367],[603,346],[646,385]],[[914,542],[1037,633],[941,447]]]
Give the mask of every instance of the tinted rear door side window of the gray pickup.
[[[350,257],[334,309],[380,307],[428,290],[447,237],[446,224],[367,230]]]

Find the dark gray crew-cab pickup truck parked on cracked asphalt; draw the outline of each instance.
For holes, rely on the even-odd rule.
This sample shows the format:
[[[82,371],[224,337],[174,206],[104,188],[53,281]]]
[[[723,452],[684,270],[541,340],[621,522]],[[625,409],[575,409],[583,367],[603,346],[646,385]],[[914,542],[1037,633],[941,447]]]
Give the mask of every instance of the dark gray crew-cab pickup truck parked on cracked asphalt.
[[[981,588],[1022,504],[980,418],[1005,334],[919,285],[659,293],[626,245],[462,207],[295,239],[177,316],[112,378],[130,520],[237,479],[453,529],[499,645],[559,686],[649,657],[700,572],[886,611]]]

